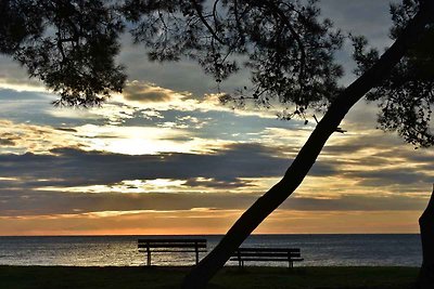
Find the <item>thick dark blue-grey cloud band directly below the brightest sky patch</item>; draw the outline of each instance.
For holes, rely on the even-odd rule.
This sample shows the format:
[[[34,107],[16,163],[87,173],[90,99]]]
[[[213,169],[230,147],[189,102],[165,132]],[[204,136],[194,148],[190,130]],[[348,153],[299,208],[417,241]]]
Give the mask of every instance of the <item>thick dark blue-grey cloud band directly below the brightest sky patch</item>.
[[[0,176],[17,178],[35,187],[111,185],[126,180],[184,180],[204,187],[243,187],[243,179],[281,176],[290,160],[260,144],[233,143],[208,153],[122,155],[53,148],[50,155],[0,155]],[[277,156],[278,155],[278,156]],[[311,175],[336,173],[331,165],[317,163]]]

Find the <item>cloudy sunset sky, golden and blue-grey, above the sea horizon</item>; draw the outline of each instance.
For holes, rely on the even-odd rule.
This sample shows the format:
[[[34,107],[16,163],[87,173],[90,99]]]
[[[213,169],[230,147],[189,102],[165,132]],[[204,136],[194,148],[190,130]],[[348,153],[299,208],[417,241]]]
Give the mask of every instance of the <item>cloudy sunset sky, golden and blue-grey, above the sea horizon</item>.
[[[344,31],[391,44],[388,1],[323,0]],[[0,235],[225,234],[283,175],[315,121],[232,109],[197,64],[150,63],[123,36],[128,82],[98,108],[59,108],[0,56]],[[349,83],[346,43],[336,57]],[[231,92],[245,71],[221,83]],[[434,180],[432,149],[375,129],[361,101],[296,192],[257,234],[417,233]]]

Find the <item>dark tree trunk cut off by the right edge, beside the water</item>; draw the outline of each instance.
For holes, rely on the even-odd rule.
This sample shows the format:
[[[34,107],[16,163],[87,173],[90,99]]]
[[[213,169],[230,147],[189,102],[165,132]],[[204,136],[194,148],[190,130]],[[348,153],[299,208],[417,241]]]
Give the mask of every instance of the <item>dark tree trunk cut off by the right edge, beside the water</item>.
[[[419,273],[418,287],[420,289],[432,289],[434,288],[434,185],[430,202],[419,219],[419,226],[423,261]]]

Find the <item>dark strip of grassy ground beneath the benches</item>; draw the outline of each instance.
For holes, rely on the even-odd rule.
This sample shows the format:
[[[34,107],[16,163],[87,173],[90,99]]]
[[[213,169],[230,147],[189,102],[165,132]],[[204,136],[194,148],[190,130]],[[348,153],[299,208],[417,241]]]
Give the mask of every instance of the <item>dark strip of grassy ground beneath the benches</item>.
[[[1,289],[179,288],[188,267],[0,266]],[[416,267],[226,267],[208,288],[413,288]]]

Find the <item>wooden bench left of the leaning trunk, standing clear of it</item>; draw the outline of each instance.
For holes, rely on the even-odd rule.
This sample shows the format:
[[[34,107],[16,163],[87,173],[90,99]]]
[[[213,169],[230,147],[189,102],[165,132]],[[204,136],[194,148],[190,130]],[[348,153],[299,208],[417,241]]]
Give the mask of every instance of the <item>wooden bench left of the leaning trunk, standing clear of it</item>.
[[[151,266],[151,252],[194,252],[196,264],[199,252],[206,252],[206,239],[139,239],[139,252],[146,252],[146,265]]]

